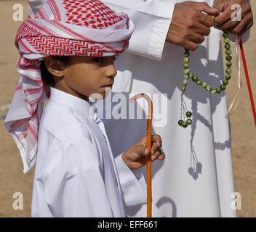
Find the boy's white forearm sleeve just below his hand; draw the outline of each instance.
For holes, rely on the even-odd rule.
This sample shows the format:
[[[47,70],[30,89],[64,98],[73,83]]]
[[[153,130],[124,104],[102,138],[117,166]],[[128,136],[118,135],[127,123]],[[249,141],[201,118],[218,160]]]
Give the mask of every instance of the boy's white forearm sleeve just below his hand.
[[[122,154],[116,157],[116,168],[119,173],[121,190],[127,207],[147,202],[147,185],[140,170],[130,170],[124,163]]]

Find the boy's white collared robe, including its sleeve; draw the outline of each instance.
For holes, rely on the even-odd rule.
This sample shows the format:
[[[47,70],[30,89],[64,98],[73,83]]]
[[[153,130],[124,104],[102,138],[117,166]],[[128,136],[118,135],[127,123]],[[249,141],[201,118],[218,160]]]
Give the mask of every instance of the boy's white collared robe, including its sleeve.
[[[125,217],[145,204],[146,183],[121,154],[113,159],[92,104],[51,88],[39,128],[32,217]]]

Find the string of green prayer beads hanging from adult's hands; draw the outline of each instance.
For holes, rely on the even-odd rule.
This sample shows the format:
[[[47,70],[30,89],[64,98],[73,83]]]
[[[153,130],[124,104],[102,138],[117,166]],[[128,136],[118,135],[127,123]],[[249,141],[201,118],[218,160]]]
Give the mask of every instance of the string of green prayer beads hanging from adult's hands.
[[[215,16],[211,16],[214,20],[215,20]],[[183,87],[182,87],[182,94],[181,94],[181,112],[180,112],[180,120],[178,121],[178,125],[180,125],[183,128],[187,128],[188,125],[192,124],[192,112],[188,111],[186,106],[185,106],[185,101],[183,99],[183,94],[185,94],[185,89],[188,86],[188,80],[191,79],[193,83],[196,83],[197,86],[201,86],[201,88],[204,88],[206,91],[208,91],[210,94],[220,94],[222,91],[225,90],[226,86],[228,86],[228,80],[231,79],[231,66],[232,66],[232,62],[231,62],[231,45],[230,45],[230,39],[228,38],[228,32],[227,31],[223,31],[223,41],[225,43],[224,47],[225,47],[225,54],[226,54],[226,69],[225,69],[225,78],[224,80],[221,81],[221,84],[219,87],[217,88],[212,88],[212,86],[210,86],[209,84],[207,84],[206,82],[203,82],[201,79],[199,79],[199,77],[197,77],[196,75],[193,75],[193,73],[189,70],[189,57],[190,57],[190,52],[188,51],[188,49],[185,49],[184,52],[184,58],[183,58],[183,62],[184,62],[184,79],[183,79]],[[183,118],[182,118],[183,117]],[[187,119],[185,119],[185,117],[187,117]]]

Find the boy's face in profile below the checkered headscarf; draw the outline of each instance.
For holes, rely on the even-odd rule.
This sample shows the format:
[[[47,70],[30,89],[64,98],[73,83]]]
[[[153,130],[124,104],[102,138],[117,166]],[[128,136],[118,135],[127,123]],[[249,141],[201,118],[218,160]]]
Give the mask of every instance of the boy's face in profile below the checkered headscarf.
[[[92,94],[100,94],[105,99],[117,73],[113,65],[115,59],[114,56],[70,57],[69,64],[63,67],[63,77],[55,77],[55,88],[85,100]]]

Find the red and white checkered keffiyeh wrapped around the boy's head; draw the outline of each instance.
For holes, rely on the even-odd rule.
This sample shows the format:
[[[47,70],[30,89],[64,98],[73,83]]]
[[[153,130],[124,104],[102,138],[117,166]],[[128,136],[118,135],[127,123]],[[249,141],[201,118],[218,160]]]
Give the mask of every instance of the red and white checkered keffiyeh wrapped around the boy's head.
[[[93,0],[49,0],[17,31],[20,80],[4,122],[23,159],[24,173],[36,161],[39,124],[49,86],[41,79],[47,56],[105,57],[120,54],[134,25],[127,14]]]

